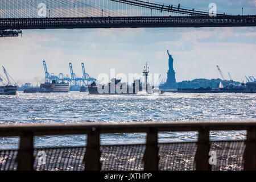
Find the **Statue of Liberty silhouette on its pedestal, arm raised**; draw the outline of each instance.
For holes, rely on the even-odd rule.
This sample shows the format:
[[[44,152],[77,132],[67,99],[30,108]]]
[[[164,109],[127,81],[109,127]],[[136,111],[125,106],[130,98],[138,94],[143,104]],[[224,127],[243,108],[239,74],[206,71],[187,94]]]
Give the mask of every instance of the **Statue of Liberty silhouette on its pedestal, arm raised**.
[[[177,83],[175,78],[175,71],[174,71],[174,59],[172,55],[167,50],[169,56],[169,70],[167,72],[167,81],[164,84],[159,85],[159,89],[161,92],[175,92],[177,91]]]

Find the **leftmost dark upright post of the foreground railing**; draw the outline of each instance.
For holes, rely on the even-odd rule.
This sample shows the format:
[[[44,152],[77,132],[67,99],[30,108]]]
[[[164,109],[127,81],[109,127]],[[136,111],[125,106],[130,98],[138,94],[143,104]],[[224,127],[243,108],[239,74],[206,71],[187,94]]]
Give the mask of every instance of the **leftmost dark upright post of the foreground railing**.
[[[34,168],[34,135],[31,131],[24,131],[20,136],[19,152],[16,158],[18,171],[33,171]]]

